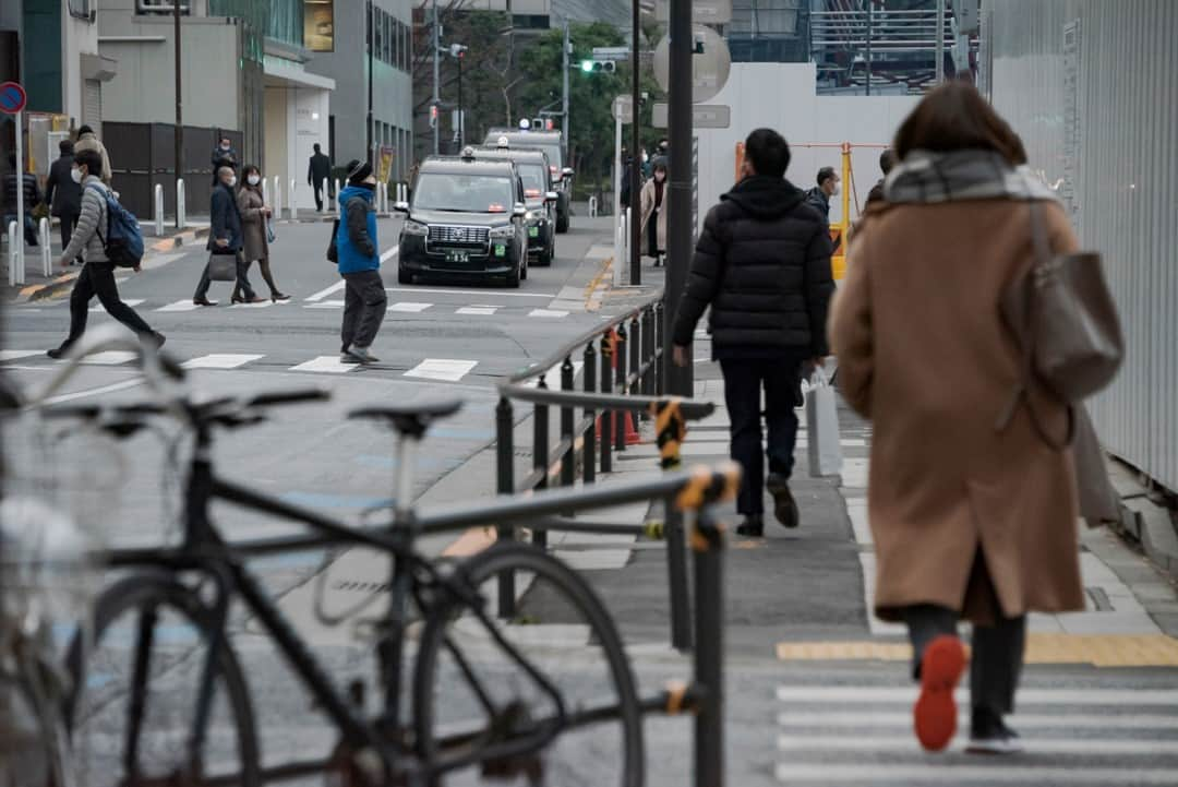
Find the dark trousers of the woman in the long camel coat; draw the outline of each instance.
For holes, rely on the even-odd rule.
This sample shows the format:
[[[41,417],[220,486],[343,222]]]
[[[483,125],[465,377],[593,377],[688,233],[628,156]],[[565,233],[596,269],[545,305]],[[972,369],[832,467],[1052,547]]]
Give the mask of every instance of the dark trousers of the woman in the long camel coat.
[[[994,586],[986,573],[985,558],[979,550],[969,577],[972,591],[990,596],[994,610],[992,626],[973,627],[973,654],[969,659],[969,703],[985,708],[997,717],[1014,712],[1014,692],[1023,673],[1023,653],[1026,648],[1026,615],[1004,617]],[[913,677],[920,677],[920,659],[935,637],[957,636],[958,613],[938,604],[915,604],[901,610],[912,641]]]

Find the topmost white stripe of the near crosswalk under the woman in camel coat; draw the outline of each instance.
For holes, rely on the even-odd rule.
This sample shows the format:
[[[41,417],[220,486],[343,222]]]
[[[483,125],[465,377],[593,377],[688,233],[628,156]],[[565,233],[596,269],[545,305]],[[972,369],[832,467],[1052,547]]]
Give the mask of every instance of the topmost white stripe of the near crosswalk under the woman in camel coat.
[[[908,705],[916,696],[915,686],[779,686],[781,702],[856,702],[872,705],[895,702]],[[968,705],[969,692],[958,688],[954,696]],[[1077,705],[1077,706],[1173,706],[1178,705],[1178,690],[1173,689],[1019,689],[1019,707],[1028,705]]]

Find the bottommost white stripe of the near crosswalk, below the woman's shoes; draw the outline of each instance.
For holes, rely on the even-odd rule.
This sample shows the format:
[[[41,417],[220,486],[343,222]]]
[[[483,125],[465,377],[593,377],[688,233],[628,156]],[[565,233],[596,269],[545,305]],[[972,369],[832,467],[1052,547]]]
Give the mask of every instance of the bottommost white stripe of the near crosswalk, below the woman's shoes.
[[[1178,768],[1092,768],[1088,766],[1044,767],[1027,765],[1025,760],[1008,760],[1008,767],[1002,768],[1001,761],[993,766],[958,765],[939,761],[918,765],[887,765],[872,762],[866,765],[839,765],[834,762],[814,763],[779,763],[775,768],[777,781],[790,785],[838,783],[932,783],[949,785],[955,782],[980,782],[1004,785],[1174,785],[1178,783]]]

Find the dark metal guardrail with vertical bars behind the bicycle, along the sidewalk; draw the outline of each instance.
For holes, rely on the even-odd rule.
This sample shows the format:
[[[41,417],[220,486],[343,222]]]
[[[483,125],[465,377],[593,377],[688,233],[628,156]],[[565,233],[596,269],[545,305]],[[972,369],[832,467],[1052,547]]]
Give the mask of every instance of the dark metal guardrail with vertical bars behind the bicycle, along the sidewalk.
[[[573,487],[578,476],[582,483],[593,484],[598,470],[613,470],[614,452],[626,450],[628,414],[635,418],[657,418],[662,467],[668,470],[680,467],[679,445],[683,437],[683,424],[707,417],[712,414],[713,405],[662,397],[663,309],[663,293],[660,291],[630,311],[565,344],[543,362],[499,386],[496,464],[497,491],[501,495]],[[580,391],[576,390],[573,363],[573,358],[578,355],[583,357],[584,364]],[[550,390],[547,377],[557,368],[561,388]],[[529,384],[532,381],[535,384]],[[521,482],[516,481],[515,472],[516,424],[512,402],[532,406],[532,470]],[[554,406],[560,408],[560,439],[555,447],[549,434],[549,409]],[[581,409],[580,421],[576,417],[577,409]],[[564,516],[532,522],[530,527],[532,543],[542,548],[548,545],[549,530],[666,537],[670,641],[679,650],[691,649],[686,535],[682,515],[671,501],[664,501],[662,522],[638,525],[588,522],[574,520],[567,512]],[[498,538],[514,540],[518,534],[510,525],[498,525],[496,535]],[[511,617],[515,606],[515,577],[503,575],[498,588],[499,616]]]

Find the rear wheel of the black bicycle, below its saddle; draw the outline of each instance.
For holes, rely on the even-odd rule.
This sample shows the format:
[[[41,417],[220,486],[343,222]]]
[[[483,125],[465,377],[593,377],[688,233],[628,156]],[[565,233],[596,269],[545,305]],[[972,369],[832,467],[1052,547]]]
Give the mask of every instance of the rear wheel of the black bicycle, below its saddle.
[[[634,675],[593,588],[557,558],[521,543],[497,544],[459,571],[492,629],[458,598],[429,610],[413,675],[422,759],[454,772],[446,785],[516,779],[641,787],[646,763]],[[508,571],[516,575],[518,602],[515,617],[504,621],[495,616],[495,597]],[[542,750],[528,743],[537,735],[550,739]],[[529,750],[504,752],[511,745]]]

